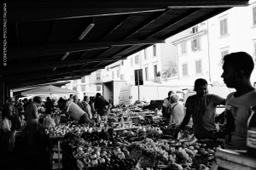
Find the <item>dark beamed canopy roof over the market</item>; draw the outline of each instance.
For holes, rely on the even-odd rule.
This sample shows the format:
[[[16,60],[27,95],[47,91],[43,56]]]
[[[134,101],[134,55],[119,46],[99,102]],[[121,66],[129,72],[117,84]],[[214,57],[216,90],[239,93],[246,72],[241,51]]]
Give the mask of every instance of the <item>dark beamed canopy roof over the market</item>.
[[[3,81],[77,79],[247,0],[9,0]],[[80,38],[84,30],[91,30]]]

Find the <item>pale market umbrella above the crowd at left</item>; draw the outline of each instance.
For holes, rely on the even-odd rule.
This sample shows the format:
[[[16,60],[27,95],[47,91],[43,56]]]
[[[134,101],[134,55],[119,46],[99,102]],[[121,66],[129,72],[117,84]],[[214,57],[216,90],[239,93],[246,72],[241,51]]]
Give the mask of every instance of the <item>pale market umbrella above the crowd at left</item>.
[[[22,95],[32,95],[32,94],[78,94],[77,91],[69,90],[66,88],[59,88],[52,85],[44,86],[41,88],[34,88],[26,92],[22,92]]]

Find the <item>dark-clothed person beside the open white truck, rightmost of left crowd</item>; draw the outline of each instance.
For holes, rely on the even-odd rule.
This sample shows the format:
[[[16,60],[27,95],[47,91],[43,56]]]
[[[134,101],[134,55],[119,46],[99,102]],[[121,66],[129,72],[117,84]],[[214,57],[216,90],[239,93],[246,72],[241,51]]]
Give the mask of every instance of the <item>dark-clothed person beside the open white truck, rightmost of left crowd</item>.
[[[106,105],[109,105],[108,101],[103,98],[102,94],[97,93],[95,99],[95,110],[100,116],[104,116],[106,113]]]

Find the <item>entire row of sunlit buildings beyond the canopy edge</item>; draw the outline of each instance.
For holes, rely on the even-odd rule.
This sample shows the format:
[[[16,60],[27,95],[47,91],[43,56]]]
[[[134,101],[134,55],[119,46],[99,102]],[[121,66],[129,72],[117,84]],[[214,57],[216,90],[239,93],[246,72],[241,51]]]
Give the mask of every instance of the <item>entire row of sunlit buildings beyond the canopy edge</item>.
[[[102,82],[123,80],[134,84],[134,71],[143,70],[144,84],[193,85],[195,79],[223,85],[222,59],[225,54],[244,51],[256,63],[256,0],[247,7],[230,8],[209,20],[154,44],[127,59],[108,65],[66,87],[84,95],[102,93]],[[256,67],[256,65],[255,65]],[[252,82],[256,82],[254,69]]]

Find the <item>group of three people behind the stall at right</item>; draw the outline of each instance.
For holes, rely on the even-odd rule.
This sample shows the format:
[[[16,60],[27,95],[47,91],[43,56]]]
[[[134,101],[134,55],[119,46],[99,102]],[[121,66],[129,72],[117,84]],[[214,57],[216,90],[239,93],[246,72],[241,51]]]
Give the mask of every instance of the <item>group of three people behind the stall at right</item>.
[[[199,78],[195,80],[196,94],[189,96],[183,108],[177,102],[177,95],[170,91],[163,104],[166,125],[177,123],[180,124],[179,131],[183,130],[192,116],[197,139],[216,139],[216,124],[221,120],[218,117],[224,117],[225,133],[230,136],[225,148],[246,150],[247,120],[252,112],[251,106],[256,105],[256,89],[250,81],[253,69],[253,58],[249,54],[238,52],[225,55],[221,77],[226,86],[235,88],[236,92],[230,93],[226,99],[208,94],[207,80]],[[225,105],[226,108],[219,116],[216,114],[218,105]]]

